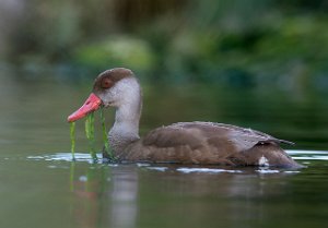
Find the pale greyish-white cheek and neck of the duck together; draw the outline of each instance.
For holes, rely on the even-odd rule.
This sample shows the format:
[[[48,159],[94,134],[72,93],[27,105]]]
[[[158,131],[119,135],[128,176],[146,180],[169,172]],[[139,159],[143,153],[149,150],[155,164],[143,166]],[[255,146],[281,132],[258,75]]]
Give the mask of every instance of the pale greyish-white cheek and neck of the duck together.
[[[115,115],[115,123],[108,133],[110,146],[116,153],[122,153],[132,142],[139,140],[139,120],[141,115],[141,91],[136,79],[117,83],[120,96]]]

